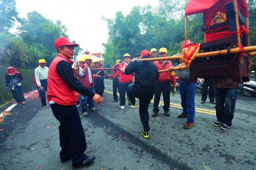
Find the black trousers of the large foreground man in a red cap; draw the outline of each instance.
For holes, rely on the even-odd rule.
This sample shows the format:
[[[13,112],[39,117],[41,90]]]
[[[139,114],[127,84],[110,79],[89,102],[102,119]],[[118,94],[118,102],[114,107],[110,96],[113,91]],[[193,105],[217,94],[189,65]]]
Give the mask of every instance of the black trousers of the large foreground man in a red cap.
[[[53,115],[59,121],[60,159],[70,158],[72,162],[86,159],[86,137],[76,105],[50,105]]]

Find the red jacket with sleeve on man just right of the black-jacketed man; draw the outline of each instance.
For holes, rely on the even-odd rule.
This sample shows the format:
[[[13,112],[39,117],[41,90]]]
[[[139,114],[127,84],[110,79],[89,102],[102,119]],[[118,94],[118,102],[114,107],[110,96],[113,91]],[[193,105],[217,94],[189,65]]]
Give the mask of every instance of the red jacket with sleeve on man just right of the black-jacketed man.
[[[168,69],[169,67],[173,66],[173,64],[167,60],[163,62],[155,61],[154,63],[156,64],[158,70]],[[168,81],[172,81],[173,85],[176,85],[175,75],[171,76],[169,71],[159,73],[159,79],[157,80],[158,83],[165,83]]]

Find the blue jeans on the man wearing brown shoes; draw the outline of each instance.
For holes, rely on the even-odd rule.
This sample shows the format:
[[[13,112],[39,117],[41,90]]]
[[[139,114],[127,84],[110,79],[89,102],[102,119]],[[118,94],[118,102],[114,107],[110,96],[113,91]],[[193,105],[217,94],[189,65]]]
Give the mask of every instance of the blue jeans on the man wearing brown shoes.
[[[180,81],[180,98],[183,113],[188,114],[187,122],[195,122],[195,88],[196,83],[189,83],[188,80]]]

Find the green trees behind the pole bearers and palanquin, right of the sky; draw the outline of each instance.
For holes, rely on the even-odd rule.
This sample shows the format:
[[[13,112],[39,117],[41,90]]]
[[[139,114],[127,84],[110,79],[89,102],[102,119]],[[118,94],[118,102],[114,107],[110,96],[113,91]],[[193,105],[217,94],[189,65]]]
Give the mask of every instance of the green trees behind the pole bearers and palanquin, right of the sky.
[[[153,47],[166,47],[168,56],[181,53],[181,44],[184,41],[184,8],[187,2],[188,0],[160,0],[156,9],[150,5],[134,7],[127,16],[119,11],[113,19],[103,18],[109,28],[109,40],[103,44],[105,66],[112,66],[117,59],[123,60],[125,53],[134,58],[141,50],[150,50]],[[256,45],[256,0],[249,0],[247,3],[251,45]],[[187,39],[193,43],[203,42],[202,26],[201,14],[189,16]],[[256,63],[256,57],[252,60]]]

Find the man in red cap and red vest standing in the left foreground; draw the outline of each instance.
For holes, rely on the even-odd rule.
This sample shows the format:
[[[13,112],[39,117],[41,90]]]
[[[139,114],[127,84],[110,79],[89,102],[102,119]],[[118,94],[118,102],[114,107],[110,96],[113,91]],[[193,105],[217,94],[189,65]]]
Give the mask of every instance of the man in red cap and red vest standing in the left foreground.
[[[95,156],[87,156],[86,137],[76,102],[78,93],[88,95],[96,104],[103,101],[100,95],[84,87],[76,78],[72,69],[74,44],[66,37],[56,39],[54,43],[57,56],[52,61],[48,72],[48,103],[53,115],[59,121],[60,160],[72,160],[73,167],[89,164]]]

